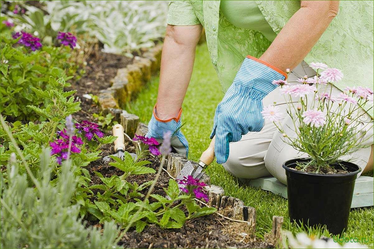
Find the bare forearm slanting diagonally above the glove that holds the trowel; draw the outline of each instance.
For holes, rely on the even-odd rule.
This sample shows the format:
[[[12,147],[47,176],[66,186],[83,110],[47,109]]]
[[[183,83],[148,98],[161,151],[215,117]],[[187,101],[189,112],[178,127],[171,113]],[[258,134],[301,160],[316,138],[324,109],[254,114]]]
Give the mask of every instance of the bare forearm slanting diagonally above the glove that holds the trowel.
[[[292,70],[310,52],[338,9],[339,1],[301,1],[300,9],[260,59],[283,71]]]

